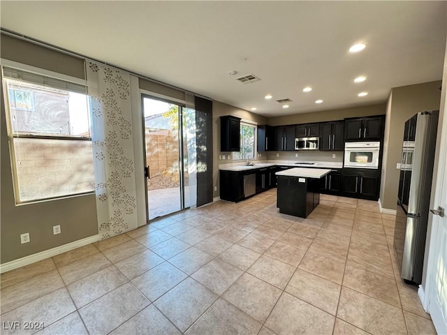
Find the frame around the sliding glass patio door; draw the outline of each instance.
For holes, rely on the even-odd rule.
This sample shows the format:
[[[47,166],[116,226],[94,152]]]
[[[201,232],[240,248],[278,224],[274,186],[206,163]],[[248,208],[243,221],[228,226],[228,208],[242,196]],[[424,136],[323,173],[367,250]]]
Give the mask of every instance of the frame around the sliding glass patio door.
[[[147,184],[149,179],[150,167],[147,165],[147,147],[146,147],[146,128],[145,128],[145,98],[162,101],[163,103],[170,103],[172,105],[177,105],[179,107],[178,111],[178,119],[179,119],[179,128],[178,128],[178,146],[179,146],[179,156],[177,163],[179,164],[179,191],[180,191],[180,209],[178,211],[173,211],[172,213],[165,214],[163,216],[157,216],[156,218],[149,219],[149,192],[147,191]],[[184,130],[183,130],[183,110],[186,108],[186,103],[182,103],[175,100],[170,100],[169,98],[161,98],[159,96],[152,96],[149,93],[141,94],[141,117],[142,117],[142,140],[143,140],[143,162],[145,164],[145,198],[146,198],[146,214],[147,214],[147,223],[150,223],[152,220],[156,220],[159,218],[163,218],[165,216],[169,216],[179,211],[184,211],[185,209],[189,209],[189,207],[185,207],[185,187],[184,187]]]

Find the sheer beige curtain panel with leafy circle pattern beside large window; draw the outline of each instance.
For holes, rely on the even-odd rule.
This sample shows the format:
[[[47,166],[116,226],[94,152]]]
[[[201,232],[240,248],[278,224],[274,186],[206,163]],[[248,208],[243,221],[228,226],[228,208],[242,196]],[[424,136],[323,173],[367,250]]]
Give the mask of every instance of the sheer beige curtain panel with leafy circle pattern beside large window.
[[[92,61],[86,71],[98,230],[107,239],[138,227],[131,75]]]

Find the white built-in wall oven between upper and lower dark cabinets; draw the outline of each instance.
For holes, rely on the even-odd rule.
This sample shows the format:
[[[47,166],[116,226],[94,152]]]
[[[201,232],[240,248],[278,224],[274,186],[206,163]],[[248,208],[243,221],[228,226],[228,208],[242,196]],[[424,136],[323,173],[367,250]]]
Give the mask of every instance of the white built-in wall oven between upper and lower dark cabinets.
[[[344,168],[378,169],[380,142],[346,142]]]

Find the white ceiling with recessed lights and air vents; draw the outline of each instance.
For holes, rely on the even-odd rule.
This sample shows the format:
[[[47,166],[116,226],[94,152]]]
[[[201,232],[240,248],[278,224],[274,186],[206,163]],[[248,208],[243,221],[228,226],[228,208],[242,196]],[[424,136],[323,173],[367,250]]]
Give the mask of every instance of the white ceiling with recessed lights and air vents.
[[[381,103],[393,87],[441,80],[446,4],[2,0],[0,22],[3,29],[273,117]],[[359,42],[367,48],[350,54]],[[261,81],[235,80],[250,73]],[[353,83],[358,75],[367,80]],[[307,85],[313,91],[303,93]],[[359,98],[360,91],[369,94]],[[281,98],[293,101],[288,110],[275,101]]]

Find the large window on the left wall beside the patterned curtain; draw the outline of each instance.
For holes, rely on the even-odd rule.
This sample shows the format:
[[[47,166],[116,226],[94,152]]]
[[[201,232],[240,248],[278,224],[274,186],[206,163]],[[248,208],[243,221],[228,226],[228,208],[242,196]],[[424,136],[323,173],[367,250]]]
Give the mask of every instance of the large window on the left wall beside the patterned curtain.
[[[94,191],[85,85],[2,67],[16,203]]]

